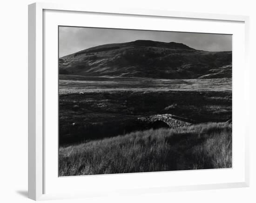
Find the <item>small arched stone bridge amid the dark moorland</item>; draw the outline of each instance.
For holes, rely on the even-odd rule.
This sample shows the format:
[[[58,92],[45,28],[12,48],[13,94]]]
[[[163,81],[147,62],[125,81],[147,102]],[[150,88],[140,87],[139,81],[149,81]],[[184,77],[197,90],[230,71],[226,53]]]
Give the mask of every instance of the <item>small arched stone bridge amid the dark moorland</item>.
[[[139,117],[139,121],[145,122],[154,125],[159,125],[160,127],[165,127],[162,124],[165,124],[166,127],[182,127],[182,126],[189,126],[192,124],[193,121],[190,121],[187,118],[182,118],[173,114],[157,114],[157,115],[151,115],[148,117]]]

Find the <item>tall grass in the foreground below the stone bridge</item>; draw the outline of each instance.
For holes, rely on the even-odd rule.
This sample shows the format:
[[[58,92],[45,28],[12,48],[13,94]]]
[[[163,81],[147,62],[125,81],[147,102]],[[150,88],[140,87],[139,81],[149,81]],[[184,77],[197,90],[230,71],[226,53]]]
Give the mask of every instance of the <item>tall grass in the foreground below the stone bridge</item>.
[[[229,168],[231,131],[225,123],[208,123],[60,147],[59,175]]]

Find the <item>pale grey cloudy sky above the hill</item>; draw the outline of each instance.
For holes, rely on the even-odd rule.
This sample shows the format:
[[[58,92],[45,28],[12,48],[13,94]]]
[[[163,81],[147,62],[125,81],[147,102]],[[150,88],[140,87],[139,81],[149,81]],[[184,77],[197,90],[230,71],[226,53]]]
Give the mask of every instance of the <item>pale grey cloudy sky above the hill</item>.
[[[178,42],[204,51],[232,50],[231,35],[60,26],[59,56],[63,57],[97,45],[130,42],[138,39]]]

